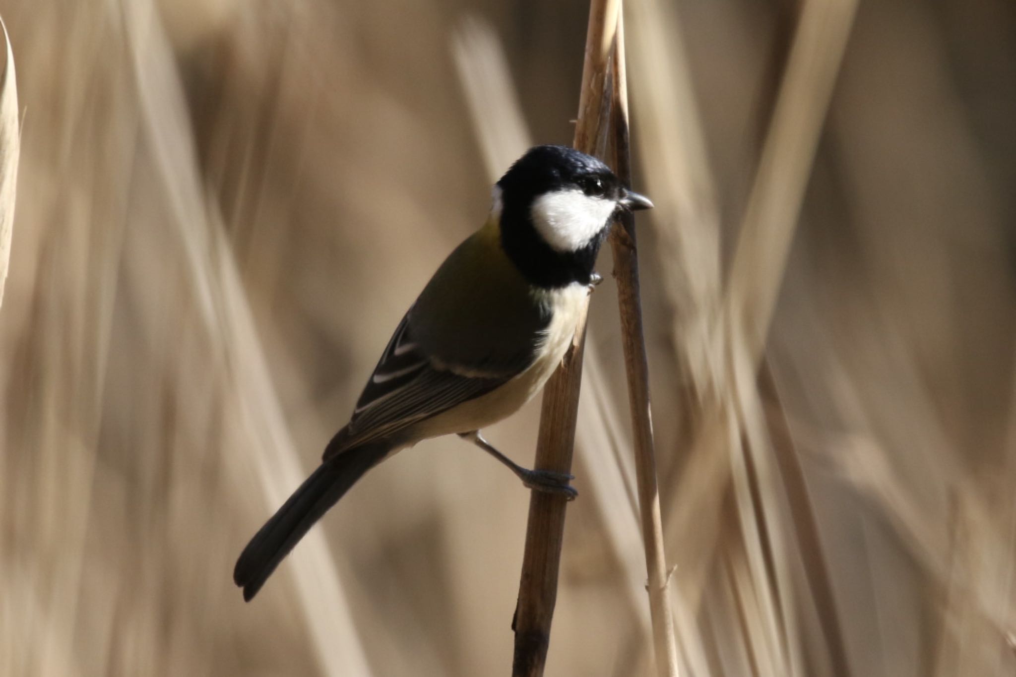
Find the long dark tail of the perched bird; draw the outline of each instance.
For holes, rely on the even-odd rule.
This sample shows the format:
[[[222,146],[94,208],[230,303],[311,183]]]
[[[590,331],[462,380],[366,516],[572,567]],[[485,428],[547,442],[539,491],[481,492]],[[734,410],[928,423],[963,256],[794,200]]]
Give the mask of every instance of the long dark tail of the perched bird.
[[[314,523],[388,451],[386,443],[368,444],[347,449],[318,466],[240,554],[233,581],[244,589],[244,600],[249,602],[257,595]]]

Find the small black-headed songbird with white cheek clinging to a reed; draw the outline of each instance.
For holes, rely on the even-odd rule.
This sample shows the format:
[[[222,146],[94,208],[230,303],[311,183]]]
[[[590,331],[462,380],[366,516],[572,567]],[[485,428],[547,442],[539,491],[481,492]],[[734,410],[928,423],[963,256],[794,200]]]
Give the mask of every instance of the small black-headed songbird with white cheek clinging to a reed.
[[[501,178],[487,222],[459,245],[399,323],[350,422],[317,470],[244,549],[233,580],[250,600],[364,473],[428,437],[459,434],[533,489],[571,479],[522,468],[480,429],[513,414],[561,362],[619,210],[652,203],[595,157],[535,146]]]

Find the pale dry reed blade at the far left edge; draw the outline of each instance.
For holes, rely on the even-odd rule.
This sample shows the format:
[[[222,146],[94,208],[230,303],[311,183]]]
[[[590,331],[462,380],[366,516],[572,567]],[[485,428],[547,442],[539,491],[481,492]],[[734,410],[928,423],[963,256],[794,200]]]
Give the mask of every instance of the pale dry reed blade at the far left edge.
[[[17,80],[14,55],[10,50],[7,26],[3,28],[4,66],[0,74],[0,304],[10,263],[10,241],[14,225],[14,198],[17,188],[17,160],[21,154],[21,135],[17,121]]]

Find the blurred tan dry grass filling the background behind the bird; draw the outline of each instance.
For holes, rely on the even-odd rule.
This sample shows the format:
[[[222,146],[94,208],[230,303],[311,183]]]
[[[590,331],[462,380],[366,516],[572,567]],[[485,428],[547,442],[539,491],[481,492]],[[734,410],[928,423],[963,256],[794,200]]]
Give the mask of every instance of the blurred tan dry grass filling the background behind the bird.
[[[683,674],[1013,674],[1016,5],[860,4],[742,439],[715,323],[798,5],[627,4]],[[491,175],[571,137],[585,11],[0,2],[0,674],[507,672],[527,497],[458,442],[372,472],[256,603],[230,572]],[[610,286],[548,674],[650,672]],[[491,432],[526,463],[537,409]]]

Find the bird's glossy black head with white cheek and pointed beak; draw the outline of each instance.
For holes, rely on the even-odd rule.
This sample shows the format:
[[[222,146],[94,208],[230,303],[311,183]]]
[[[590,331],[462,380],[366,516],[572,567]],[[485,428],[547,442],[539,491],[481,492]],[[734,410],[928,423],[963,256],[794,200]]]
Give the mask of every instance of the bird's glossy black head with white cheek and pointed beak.
[[[530,148],[495,187],[501,242],[530,283],[588,284],[618,209],[645,209],[601,161],[566,146]]]

